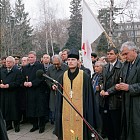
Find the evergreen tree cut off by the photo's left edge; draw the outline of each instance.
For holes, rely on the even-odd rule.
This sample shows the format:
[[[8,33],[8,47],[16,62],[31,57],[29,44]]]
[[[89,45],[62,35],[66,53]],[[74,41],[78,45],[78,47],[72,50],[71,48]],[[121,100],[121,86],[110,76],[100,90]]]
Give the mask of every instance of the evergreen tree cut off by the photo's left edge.
[[[0,1],[0,56],[11,53],[11,7],[9,0]]]

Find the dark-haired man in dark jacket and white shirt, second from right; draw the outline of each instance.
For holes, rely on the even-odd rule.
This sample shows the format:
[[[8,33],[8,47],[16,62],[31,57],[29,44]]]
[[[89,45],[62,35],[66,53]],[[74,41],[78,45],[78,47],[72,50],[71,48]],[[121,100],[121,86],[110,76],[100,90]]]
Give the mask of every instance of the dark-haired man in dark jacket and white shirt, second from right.
[[[103,90],[100,93],[103,127],[108,140],[120,139],[121,95],[114,87],[120,81],[122,63],[117,58],[118,50],[114,47],[109,48],[108,64],[103,69]]]

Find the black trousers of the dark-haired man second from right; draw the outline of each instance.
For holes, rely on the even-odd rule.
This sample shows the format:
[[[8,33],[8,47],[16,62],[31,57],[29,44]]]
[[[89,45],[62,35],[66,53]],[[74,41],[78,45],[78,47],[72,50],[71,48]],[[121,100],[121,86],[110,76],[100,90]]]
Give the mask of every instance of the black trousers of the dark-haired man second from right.
[[[101,116],[103,120],[103,129],[108,140],[120,140],[121,110],[101,109]]]

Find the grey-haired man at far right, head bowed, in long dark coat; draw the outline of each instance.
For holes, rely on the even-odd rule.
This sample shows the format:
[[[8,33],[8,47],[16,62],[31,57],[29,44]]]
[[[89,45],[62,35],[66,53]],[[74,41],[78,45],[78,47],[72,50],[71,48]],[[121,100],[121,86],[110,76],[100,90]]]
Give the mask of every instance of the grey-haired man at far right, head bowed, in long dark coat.
[[[122,140],[140,139],[140,56],[133,42],[122,44],[126,60],[122,68],[122,82],[116,85],[123,93]]]

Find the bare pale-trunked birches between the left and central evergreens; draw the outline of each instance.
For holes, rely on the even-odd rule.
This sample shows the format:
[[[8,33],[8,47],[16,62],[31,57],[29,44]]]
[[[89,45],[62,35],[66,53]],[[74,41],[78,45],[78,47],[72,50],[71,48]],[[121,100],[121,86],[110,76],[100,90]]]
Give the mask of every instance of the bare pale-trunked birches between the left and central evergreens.
[[[67,19],[56,18],[57,8],[54,6],[52,8],[49,0],[42,0],[40,5],[40,22],[34,32],[38,41],[35,42],[38,42],[39,49],[53,55],[56,53],[55,47],[57,46],[60,51],[68,38],[67,27],[69,22]]]

